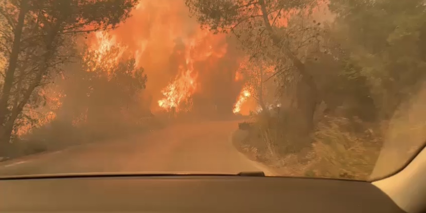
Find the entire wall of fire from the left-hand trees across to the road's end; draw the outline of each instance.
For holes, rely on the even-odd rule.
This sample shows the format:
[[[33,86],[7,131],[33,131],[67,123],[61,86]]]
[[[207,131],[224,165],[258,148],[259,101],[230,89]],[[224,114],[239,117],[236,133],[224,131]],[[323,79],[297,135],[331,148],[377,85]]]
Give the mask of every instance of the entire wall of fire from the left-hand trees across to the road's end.
[[[201,29],[188,14],[184,1],[141,0],[119,28],[87,34],[86,40],[78,38],[77,41],[84,41],[75,46],[82,52],[83,68],[66,65],[66,72],[59,75],[54,84],[59,87],[42,88],[44,98],[56,102],[46,102],[35,110],[28,108],[27,120],[17,122],[15,134],[23,135],[55,119],[71,119],[74,126],[80,126],[91,119],[90,114],[95,116],[94,109],[91,112],[87,108],[91,101],[94,104],[94,94],[102,96],[95,90],[107,86],[115,90],[127,88],[123,84],[127,80],[136,84],[135,90],[129,92],[137,96],[141,114],[146,113],[147,108],[153,112],[191,111],[213,116],[230,114],[236,105],[240,109],[248,96],[239,99],[239,94],[247,89],[253,92],[253,88],[250,84],[244,86],[246,76],[237,72],[243,56],[236,49],[235,38]],[[94,29],[88,29],[91,30]],[[69,45],[72,44],[67,48],[72,48]],[[150,80],[146,85],[145,73]],[[81,88],[72,91],[76,85]],[[106,108],[112,101],[123,101],[111,100],[114,95],[107,96],[104,98],[110,98],[110,102],[104,103]],[[255,105],[251,107],[256,109]],[[240,111],[234,110],[234,113]],[[119,114],[125,117],[126,113]]]

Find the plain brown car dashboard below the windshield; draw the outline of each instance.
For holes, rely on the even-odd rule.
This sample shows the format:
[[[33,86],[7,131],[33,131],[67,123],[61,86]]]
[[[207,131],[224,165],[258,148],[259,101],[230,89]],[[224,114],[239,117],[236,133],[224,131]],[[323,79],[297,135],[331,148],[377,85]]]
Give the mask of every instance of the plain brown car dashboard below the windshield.
[[[0,211],[399,213],[368,182],[241,176],[0,180]]]

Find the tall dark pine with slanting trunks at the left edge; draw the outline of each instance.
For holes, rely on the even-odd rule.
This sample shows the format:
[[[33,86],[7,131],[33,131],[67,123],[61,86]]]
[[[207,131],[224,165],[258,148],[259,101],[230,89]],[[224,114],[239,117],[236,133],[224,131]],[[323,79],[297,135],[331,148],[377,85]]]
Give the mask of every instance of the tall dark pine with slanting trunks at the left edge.
[[[137,0],[4,1],[1,54],[7,61],[0,96],[0,143],[10,140],[16,118],[37,88],[72,59],[79,33],[112,29],[129,17]],[[96,12],[95,12],[96,11]],[[1,147],[0,147],[1,149]]]

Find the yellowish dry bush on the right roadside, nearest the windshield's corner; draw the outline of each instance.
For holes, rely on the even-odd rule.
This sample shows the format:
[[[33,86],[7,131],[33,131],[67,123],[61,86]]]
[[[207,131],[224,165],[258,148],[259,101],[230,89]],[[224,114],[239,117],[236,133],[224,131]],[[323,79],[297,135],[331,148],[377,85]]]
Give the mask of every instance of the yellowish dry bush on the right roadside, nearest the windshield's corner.
[[[326,116],[317,124],[311,168],[316,176],[366,179],[381,147],[379,127],[358,118]]]

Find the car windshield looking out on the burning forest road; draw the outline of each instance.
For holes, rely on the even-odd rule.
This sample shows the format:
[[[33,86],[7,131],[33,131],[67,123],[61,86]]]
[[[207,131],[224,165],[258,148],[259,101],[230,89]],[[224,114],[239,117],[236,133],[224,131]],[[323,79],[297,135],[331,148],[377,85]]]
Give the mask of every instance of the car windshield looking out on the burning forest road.
[[[423,0],[0,3],[0,176],[367,180],[426,140]]]

